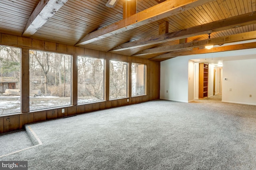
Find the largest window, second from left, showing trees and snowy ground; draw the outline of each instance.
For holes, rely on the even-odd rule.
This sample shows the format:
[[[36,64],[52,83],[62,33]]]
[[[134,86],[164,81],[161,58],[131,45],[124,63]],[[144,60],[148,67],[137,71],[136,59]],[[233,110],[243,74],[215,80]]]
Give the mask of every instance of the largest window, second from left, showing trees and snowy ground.
[[[70,105],[71,58],[30,50],[30,111]]]

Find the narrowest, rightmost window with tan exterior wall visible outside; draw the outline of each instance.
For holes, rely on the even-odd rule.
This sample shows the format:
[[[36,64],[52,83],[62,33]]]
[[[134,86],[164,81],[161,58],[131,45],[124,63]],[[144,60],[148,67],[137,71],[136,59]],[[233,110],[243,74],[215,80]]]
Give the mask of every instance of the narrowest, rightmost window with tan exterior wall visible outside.
[[[132,96],[145,95],[146,65],[132,63]]]

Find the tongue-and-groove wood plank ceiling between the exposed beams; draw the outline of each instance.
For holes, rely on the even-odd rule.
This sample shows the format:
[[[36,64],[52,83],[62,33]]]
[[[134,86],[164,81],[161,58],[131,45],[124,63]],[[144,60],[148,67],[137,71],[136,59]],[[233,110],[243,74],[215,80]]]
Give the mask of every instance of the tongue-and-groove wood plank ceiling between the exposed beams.
[[[0,32],[21,36],[29,16],[36,8],[39,1],[40,0],[1,0]],[[52,18],[49,18],[44,26],[31,36],[31,38],[74,45],[87,34],[122,20],[122,6],[125,1],[119,0],[114,8],[106,7],[105,4],[107,1],[108,0],[68,0]],[[137,12],[141,12],[142,10],[146,10],[158,4],[156,0],[137,0],[137,2]],[[94,41],[84,45],[84,47],[108,51],[122,43],[157,36],[159,24],[165,21],[169,23],[169,32],[174,32],[255,11],[256,0],[215,0],[168,18],[102,40]],[[256,30],[256,24],[213,32],[211,38],[254,30]],[[207,34],[188,37],[188,42],[205,40],[207,38]],[[115,53],[133,55],[144,49],[175,45],[177,43],[179,43],[178,40],[127,49]],[[186,49],[185,51],[187,50],[191,49]],[[149,58],[150,55],[144,57]]]

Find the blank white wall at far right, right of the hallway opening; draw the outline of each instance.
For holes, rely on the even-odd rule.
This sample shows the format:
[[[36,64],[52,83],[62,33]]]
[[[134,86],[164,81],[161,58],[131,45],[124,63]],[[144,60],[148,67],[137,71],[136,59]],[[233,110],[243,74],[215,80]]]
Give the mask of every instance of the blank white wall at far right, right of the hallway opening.
[[[256,105],[256,59],[224,61],[222,75],[222,101]]]

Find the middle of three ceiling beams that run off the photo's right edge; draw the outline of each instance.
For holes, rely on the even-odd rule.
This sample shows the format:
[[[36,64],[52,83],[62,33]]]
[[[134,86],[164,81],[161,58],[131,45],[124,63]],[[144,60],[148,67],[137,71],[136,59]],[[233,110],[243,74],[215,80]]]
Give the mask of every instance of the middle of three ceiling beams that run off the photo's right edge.
[[[240,42],[240,41],[254,40],[254,39],[256,39],[256,31],[245,32],[245,33],[235,34],[231,36],[211,38],[211,39],[195,41],[195,42],[180,43],[180,44],[169,45],[165,47],[146,49],[132,56],[142,56],[142,55],[155,54],[155,53],[166,53],[170,51],[178,51],[181,49],[200,47],[205,45],[220,45],[224,43]]]

